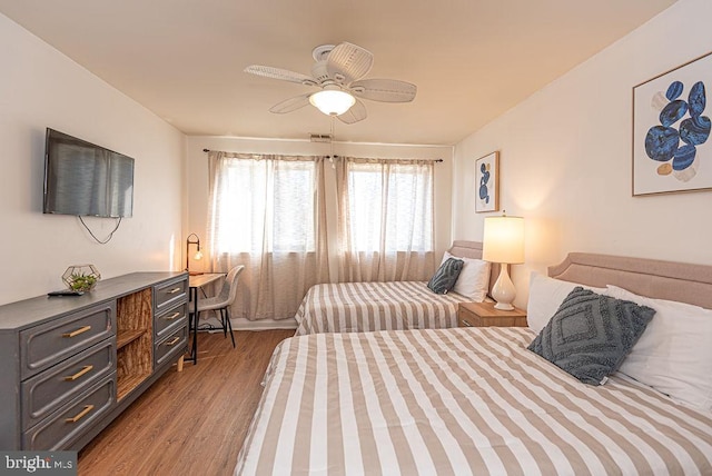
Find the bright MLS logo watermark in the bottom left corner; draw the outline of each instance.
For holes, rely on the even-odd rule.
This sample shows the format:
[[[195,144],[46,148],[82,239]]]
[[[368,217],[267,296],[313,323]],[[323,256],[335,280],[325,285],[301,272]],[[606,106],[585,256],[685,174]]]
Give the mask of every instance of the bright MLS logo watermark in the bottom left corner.
[[[77,452],[0,452],[0,476],[76,476]]]

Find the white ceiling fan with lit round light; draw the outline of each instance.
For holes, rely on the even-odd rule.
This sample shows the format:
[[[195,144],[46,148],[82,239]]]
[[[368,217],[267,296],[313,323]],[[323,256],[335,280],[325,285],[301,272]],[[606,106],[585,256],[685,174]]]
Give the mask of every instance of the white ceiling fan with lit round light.
[[[312,51],[312,57],[316,61],[312,67],[312,76],[261,65],[245,68],[245,72],[251,75],[320,88],[317,92],[281,101],[273,106],[270,112],[291,112],[312,103],[325,115],[336,116],[345,123],[354,123],[366,119],[366,107],[359,99],[409,102],[415,98],[417,88],[409,82],[362,79],[370,70],[374,56],[356,44],[322,44]]]

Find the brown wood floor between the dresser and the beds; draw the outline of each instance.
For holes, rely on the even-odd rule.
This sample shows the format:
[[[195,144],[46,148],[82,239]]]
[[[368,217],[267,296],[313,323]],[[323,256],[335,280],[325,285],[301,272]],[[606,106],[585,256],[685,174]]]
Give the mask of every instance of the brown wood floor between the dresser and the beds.
[[[275,346],[294,330],[198,335],[198,365],[168,370],[79,453],[79,475],[230,475]]]

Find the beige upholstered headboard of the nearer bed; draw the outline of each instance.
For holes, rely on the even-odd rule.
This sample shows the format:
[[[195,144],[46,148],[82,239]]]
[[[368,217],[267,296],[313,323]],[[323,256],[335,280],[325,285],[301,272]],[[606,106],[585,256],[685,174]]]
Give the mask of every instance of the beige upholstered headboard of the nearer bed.
[[[548,276],[583,285],[614,285],[637,295],[712,309],[712,266],[571,252]]]

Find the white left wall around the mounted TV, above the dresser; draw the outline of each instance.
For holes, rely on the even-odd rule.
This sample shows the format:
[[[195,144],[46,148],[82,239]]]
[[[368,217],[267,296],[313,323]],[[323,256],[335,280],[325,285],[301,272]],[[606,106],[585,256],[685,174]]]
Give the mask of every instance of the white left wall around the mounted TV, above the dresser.
[[[62,288],[71,265],[105,278],[180,269],[185,136],[1,14],[0,44],[0,304]],[[47,127],[136,159],[134,217],[109,244],[42,214]],[[113,227],[87,222],[99,238]]]

